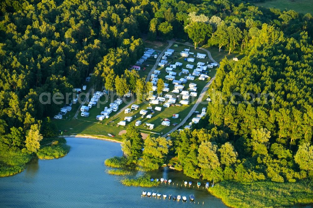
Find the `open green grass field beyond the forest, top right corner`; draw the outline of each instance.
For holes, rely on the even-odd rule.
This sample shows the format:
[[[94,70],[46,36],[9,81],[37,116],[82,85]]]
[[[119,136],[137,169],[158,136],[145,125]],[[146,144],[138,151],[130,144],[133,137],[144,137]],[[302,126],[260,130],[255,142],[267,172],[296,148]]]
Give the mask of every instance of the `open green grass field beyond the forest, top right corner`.
[[[255,3],[258,7],[274,7],[280,10],[294,10],[298,13],[313,14],[313,0],[271,0]]]

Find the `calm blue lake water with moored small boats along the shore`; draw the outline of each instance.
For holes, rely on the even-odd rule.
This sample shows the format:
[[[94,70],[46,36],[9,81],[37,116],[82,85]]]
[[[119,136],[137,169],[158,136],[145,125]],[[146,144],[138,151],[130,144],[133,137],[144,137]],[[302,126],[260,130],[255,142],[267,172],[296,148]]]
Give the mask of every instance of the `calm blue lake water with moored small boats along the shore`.
[[[105,159],[122,155],[120,144],[85,138],[66,140],[71,146],[67,156],[33,161],[25,171],[0,178],[0,207],[226,207],[202,187],[196,188],[197,180],[191,180],[190,188],[184,187],[183,180],[190,179],[167,167],[153,175],[172,179],[171,185],[125,187],[120,183],[123,177],[107,174],[104,166]],[[141,197],[142,190],[185,195],[188,200]],[[189,201],[191,194],[195,203]]]

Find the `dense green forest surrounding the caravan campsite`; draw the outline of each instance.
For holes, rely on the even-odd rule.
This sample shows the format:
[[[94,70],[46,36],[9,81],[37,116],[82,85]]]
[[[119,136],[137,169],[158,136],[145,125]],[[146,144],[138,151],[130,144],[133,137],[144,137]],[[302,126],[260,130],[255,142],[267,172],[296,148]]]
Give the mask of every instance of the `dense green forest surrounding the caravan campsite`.
[[[72,92],[90,73],[98,87],[125,81],[134,90],[139,77],[126,69],[143,52],[146,34],[245,53],[239,62],[221,62],[213,102],[195,130],[146,145],[172,144],[193,178],[293,182],[313,175],[311,14],[239,0],[6,0],[0,15],[0,145],[9,158],[1,155],[2,170],[23,162],[8,162],[10,156],[27,162],[43,136],[56,134],[47,117],[64,103],[43,105],[41,93]],[[155,168],[167,150],[158,161],[149,154]]]

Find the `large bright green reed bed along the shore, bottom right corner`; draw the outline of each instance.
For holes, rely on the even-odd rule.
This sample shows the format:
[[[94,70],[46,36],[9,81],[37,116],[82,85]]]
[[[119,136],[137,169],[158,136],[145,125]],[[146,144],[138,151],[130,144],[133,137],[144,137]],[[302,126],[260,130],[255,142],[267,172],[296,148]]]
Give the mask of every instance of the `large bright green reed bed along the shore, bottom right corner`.
[[[296,183],[222,181],[208,191],[230,207],[290,207],[313,204],[313,182]]]

